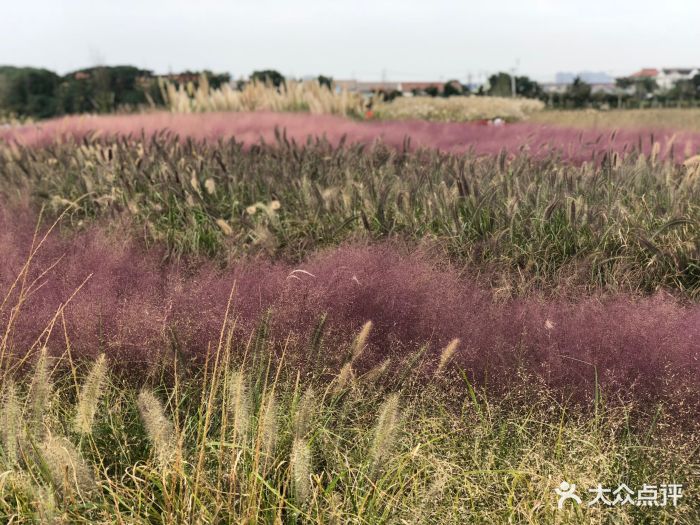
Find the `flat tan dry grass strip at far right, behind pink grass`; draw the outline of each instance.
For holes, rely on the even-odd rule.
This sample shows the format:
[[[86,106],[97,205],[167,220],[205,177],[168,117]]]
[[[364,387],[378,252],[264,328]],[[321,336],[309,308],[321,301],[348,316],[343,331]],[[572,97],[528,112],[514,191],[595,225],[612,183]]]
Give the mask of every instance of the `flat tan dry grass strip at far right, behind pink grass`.
[[[669,129],[700,131],[700,108],[552,110],[532,113],[528,120],[552,126],[588,129]]]

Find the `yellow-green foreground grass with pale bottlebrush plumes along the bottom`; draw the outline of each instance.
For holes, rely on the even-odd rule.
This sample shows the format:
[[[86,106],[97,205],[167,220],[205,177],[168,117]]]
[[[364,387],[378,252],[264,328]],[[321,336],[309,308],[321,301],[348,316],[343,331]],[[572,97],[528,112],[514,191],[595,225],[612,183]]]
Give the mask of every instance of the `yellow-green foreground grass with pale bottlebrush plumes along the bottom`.
[[[220,366],[206,374],[164,363],[161,380],[151,379],[150,386],[133,377],[105,383],[112,406],[97,406],[100,417],[88,434],[70,432],[75,365],[64,355],[56,362],[58,402],[46,414],[50,431],[32,445],[36,436],[20,420],[17,431],[27,436],[20,459],[9,461],[6,440],[0,448],[0,519],[590,523],[599,509],[557,509],[554,489],[561,480],[584,488],[623,481],[641,487],[657,479],[687,487],[676,507],[627,505],[609,512],[630,523],[700,518],[690,490],[698,433],[690,421],[671,427],[674,419],[662,405],[598,401],[574,412],[533,382],[499,398],[468,383],[415,390],[414,369],[401,371],[403,382],[358,385],[358,395],[337,396],[322,373],[300,384],[284,358],[273,367],[269,360],[243,367],[231,350],[220,348],[212,357]],[[249,385],[251,410],[238,412],[247,420],[239,428],[257,428],[238,443],[212,404],[236,384],[225,380],[227,370],[239,370]],[[31,395],[30,378],[16,380],[15,395]],[[177,407],[178,445],[154,391]],[[202,399],[212,401],[202,406]],[[22,405],[21,399],[13,403]],[[211,409],[215,415],[206,424]],[[275,415],[274,429],[267,414]],[[164,456],[170,460],[176,446],[181,467],[164,472]]]

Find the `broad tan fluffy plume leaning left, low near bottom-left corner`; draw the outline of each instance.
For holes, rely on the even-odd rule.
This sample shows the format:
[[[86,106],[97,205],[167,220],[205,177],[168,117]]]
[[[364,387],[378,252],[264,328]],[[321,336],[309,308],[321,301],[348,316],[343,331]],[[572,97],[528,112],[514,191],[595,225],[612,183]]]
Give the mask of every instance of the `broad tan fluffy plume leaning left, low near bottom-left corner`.
[[[49,434],[41,443],[40,451],[51,480],[64,497],[76,492],[87,494],[94,489],[90,468],[68,439]]]

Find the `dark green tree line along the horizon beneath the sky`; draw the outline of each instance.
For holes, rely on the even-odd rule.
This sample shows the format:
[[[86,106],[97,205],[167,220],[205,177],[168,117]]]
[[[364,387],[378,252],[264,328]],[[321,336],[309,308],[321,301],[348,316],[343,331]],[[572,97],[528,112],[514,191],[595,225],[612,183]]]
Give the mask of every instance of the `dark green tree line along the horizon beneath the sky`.
[[[226,73],[184,71],[170,75],[155,75],[134,66],[97,66],[58,75],[41,68],[0,66],[0,117],[16,116],[36,119],[76,113],[111,113],[142,107],[165,105],[160,80],[195,87],[206,77],[213,88],[230,83]],[[284,76],[275,70],[255,71],[250,80],[279,87]],[[333,79],[319,76],[318,81],[329,88]],[[239,88],[241,87],[239,81]],[[390,100],[403,93],[377,93]],[[444,85],[432,85],[415,94],[429,96],[518,96],[543,100],[550,107],[647,107],[700,104],[700,74],[681,80],[666,91],[659,90],[653,79],[619,78],[616,89],[595,92],[593,87],[577,78],[562,91],[547,92],[541,84],[527,76],[512,77],[508,73],[491,75],[488,82],[475,87],[450,80]]]

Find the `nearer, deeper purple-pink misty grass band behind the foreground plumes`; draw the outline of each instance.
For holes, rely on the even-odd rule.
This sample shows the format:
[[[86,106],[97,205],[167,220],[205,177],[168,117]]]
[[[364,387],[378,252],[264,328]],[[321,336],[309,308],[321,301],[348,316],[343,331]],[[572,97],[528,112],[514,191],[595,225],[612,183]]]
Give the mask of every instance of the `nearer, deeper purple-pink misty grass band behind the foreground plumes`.
[[[0,298],[27,258],[32,232],[30,213],[0,214]],[[330,332],[324,352],[333,366],[371,320],[370,347],[360,363],[365,370],[388,356],[400,361],[424,343],[428,362],[435,363],[440,349],[458,337],[454,362],[497,390],[525,370],[574,395],[589,396],[599,381],[615,395],[675,396],[700,407],[700,306],[665,296],[496,301],[444,261],[392,244],[344,246],[297,266],[248,260],[225,270],[209,263],[193,270],[163,265],[156,250],[115,241],[99,228],[54,232],[33,262],[27,282],[38,280],[13,321],[11,352],[36,348],[42,330],[88,276],[64,312],[73,356],[105,351],[133,370],[144,370],[173,340],[190,357],[215,348],[235,285],[237,341],[245,341],[271,308],[272,337],[283,344],[291,334],[297,342],[289,352],[297,359],[305,359],[304,341],[325,312]],[[13,292],[0,308],[0,332],[16,303]],[[65,335],[62,323],[54,327],[52,353],[65,350]]]

